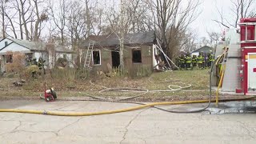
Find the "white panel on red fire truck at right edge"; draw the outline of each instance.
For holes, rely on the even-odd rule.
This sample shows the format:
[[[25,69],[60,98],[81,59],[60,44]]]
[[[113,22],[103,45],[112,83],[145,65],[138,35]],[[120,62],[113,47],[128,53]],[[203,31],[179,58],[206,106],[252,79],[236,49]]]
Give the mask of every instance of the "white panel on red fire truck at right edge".
[[[248,54],[248,88],[256,90],[256,53]]]

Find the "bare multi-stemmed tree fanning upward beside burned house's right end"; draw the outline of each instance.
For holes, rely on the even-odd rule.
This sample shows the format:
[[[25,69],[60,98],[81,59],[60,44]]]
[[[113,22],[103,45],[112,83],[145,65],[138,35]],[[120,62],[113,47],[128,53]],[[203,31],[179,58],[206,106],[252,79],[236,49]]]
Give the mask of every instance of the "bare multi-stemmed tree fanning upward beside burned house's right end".
[[[181,45],[186,28],[198,17],[199,1],[147,0],[154,15],[154,23],[164,52],[174,57],[174,50]]]

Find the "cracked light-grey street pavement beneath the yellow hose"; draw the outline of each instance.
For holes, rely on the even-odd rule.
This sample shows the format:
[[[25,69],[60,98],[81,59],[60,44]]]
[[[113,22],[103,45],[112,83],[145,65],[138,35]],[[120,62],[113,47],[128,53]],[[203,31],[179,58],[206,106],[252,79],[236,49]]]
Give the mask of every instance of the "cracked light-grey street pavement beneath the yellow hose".
[[[164,106],[195,109],[204,104]],[[137,106],[113,102],[1,101],[0,108],[102,111]],[[221,103],[197,114],[148,108],[119,114],[62,117],[0,113],[1,143],[255,143],[255,102]]]

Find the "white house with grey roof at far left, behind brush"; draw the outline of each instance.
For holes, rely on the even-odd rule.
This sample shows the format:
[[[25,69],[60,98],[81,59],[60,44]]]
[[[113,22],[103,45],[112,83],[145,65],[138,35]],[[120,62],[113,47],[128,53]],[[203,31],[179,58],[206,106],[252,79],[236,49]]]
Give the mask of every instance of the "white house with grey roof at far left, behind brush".
[[[6,63],[11,62],[12,55],[6,55],[9,51],[11,52],[21,52],[26,54],[27,58],[43,58],[45,66],[52,68],[54,63],[58,58],[70,59],[72,57],[73,51],[67,49],[64,46],[54,46],[52,44],[46,44],[43,42],[31,42],[27,40],[20,40],[14,38],[3,38],[0,41],[0,62],[1,62],[1,72],[6,70]]]

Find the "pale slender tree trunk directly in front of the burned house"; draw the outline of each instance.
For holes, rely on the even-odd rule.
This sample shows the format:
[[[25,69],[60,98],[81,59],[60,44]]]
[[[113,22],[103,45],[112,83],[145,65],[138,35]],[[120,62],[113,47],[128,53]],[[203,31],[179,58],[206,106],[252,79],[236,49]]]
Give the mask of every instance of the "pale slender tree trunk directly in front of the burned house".
[[[121,34],[121,38],[119,39],[120,41],[120,50],[119,50],[119,54],[120,54],[120,66],[121,69],[124,69],[124,62],[123,62],[123,39],[124,39],[124,8],[125,8],[125,0],[121,0],[121,29],[120,29],[120,34]]]

